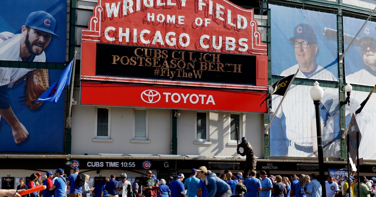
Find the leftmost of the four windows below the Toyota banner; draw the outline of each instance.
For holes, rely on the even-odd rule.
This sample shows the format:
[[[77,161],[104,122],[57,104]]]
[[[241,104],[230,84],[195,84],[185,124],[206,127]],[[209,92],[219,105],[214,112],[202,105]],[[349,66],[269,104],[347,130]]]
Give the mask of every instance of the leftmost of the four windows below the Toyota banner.
[[[96,138],[110,138],[110,109],[96,108]]]

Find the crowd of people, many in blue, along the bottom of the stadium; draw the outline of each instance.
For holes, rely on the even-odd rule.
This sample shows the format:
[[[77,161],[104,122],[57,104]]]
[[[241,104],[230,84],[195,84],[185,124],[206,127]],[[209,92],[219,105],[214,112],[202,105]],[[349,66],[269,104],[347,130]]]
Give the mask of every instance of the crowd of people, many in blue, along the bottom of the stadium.
[[[282,177],[268,176],[264,170],[259,173],[252,170],[250,174],[243,176],[241,172],[235,175],[230,170],[222,170],[217,176],[201,166],[193,168],[187,178],[180,173],[176,179],[169,177],[168,181],[159,180],[151,170],[147,170],[146,175],[147,177],[136,177],[130,183],[126,173],[120,174],[118,178],[111,174],[110,178],[90,188],[88,174],[79,174],[79,169],[74,168],[73,174],[67,176],[59,168],[55,172],[48,171],[43,178],[41,173],[31,174],[26,182],[21,178],[17,190],[1,189],[0,196],[90,197],[92,193],[94,197],[321,197],[323,194],[316,173]],[[371,197],[376,194],[376,177],[368,180],[365,176],[353,177],[354,173],[351,175],[337,177],[336,180],[329,174],[325,182],[326,197]],[[40,185],[45,185],[46,189],[23,196],[19,194],[25,189]]]

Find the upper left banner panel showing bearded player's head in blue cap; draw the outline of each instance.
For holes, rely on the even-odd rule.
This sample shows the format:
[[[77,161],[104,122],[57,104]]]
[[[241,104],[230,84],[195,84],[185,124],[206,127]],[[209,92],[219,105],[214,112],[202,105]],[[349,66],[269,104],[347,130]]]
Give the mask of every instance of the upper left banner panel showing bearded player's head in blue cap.
[[[0,60],[65,62],[67,2],[3,0]]]

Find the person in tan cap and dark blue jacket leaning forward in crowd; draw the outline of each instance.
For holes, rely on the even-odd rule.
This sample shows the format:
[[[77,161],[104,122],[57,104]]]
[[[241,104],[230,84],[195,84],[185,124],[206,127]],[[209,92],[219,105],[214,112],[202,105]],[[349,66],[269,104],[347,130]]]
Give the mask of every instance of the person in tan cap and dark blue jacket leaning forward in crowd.
[[[208,173],[208,169],[205,166],[199,167],[197,171],[197,178],[203,179],[208,189],[207,197],[230,197],[231,188],[220,179],[215,173]]]

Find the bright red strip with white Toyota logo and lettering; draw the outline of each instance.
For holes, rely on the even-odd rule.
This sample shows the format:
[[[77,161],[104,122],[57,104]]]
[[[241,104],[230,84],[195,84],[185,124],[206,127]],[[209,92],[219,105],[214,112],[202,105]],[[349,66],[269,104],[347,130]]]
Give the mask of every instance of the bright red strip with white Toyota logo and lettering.
[[[81,104],[267,113],[262,92],[82,82]]]

